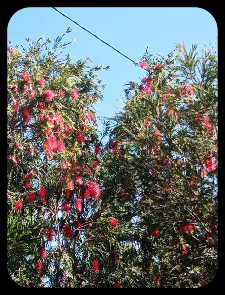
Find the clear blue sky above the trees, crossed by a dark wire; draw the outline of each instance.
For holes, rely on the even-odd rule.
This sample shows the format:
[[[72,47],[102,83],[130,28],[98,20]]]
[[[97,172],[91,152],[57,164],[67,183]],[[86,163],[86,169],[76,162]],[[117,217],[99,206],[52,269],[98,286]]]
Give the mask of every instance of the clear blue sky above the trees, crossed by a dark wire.
[[[58,7],[56,7],[58,8]],[[216,41],[217,25],[213,16],[201,8],[151,8],[151,7],[72,7],[58,8],[64,14],[89,29],[104,41],[139,61],[146,47],[152,54],[167,55],[181,43],[187,48],[195,42],[199,49],[204,43]],[[50,39],[62,35],[68,27],[65,41],[72,38],[75,43],[65,48],[74,62],[89,57],[93,64],[110,65],[108,71],[99,72],[99,78],[106,88],[104,99],[95,108],[99,116],[110,117],[117,107],[121,108],[121,94],[128,81],[138,81],[145,71],[134,66],[111,48],[101,43],[88,32],[77,27],[52,8],[24,8],[17,11],[8,24],[8,40],[16,44],[26,44],[26,37],[37,40],[41,35]],[[119,99],[119,101],[118,101]]]

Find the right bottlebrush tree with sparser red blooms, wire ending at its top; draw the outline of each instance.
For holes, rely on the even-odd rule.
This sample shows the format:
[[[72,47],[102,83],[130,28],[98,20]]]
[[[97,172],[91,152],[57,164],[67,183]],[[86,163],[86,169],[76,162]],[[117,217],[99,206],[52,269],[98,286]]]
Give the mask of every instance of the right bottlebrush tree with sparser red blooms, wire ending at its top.
[[[216,56],[182,44],[139,66],[102,164],[120,225],[114,273],[122,287],[203,286],[217,271]]]

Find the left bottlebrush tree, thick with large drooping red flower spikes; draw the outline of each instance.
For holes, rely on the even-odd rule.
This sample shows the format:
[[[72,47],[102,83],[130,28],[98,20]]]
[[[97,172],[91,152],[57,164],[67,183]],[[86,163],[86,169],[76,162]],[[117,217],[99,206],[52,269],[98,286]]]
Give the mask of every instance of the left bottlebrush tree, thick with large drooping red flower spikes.
[[[62,37],[8,46],[8,270],[27,287],[82,286],[96,258],[102,66],[72,63]]]

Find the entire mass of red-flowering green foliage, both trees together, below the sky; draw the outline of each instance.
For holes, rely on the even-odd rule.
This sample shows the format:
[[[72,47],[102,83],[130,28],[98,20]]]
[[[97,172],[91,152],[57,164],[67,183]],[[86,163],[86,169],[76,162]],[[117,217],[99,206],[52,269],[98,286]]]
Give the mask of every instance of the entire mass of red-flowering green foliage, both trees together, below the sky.
[[[102,66],[62,57],[62,37],[8,46],[10,276],[26,287],[207,284],[217,269],[213,49],[146,52],[146,75],[104,121],[103,144]]]

